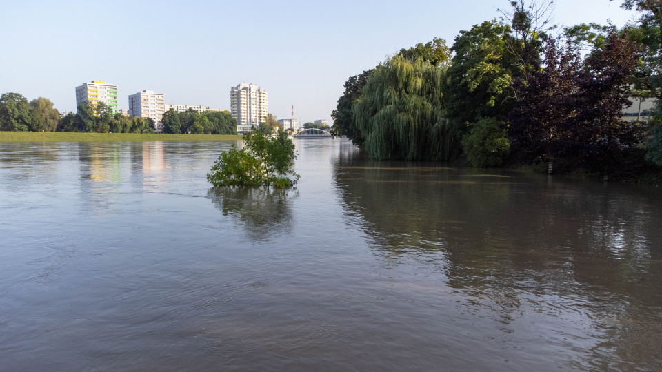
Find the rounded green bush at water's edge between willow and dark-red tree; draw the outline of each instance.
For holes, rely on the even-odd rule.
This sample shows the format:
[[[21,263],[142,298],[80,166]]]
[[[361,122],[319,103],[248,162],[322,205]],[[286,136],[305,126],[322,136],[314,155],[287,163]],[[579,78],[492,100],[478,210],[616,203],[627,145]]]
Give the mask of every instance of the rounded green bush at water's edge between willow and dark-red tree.
[[[494,118],[483,118],[472,125],[462,138],[462,146],[472,167],[498,167],[510,152],[503,123]]]

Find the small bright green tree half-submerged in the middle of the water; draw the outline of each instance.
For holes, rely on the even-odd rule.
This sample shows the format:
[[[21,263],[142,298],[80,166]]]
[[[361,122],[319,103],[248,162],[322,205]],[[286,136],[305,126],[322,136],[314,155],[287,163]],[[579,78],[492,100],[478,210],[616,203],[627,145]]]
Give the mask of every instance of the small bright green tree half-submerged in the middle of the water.
[[[290,187],[297,183],[299,175],[292,169],[297,158],[294,143],[285,132],[268,137],[254,130],[243,139],[243,149],[232,146],[230,151],[219,156],[207,174],[207,180],[214,187]]]

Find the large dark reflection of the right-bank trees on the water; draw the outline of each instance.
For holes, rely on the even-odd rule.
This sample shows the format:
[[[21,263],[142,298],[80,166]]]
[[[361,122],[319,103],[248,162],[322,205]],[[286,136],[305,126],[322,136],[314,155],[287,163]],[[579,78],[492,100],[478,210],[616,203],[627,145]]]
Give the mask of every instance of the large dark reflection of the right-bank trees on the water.
[[[384,265],[417,261],[462,311],[506,333],[539,327],[580,369],[662,369],[659,190],[438,164],[347,149],[333,177]]]

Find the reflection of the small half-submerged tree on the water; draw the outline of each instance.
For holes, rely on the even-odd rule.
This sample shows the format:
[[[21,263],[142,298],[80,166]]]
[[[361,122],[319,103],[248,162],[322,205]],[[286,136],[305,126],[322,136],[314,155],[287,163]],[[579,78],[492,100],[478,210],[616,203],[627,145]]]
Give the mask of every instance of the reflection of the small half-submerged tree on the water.
[[[292,232],[292,203],[299,196],[296,189],[212,187],[207,195],[223,216],[234,218],[253,242],[269,242]]]

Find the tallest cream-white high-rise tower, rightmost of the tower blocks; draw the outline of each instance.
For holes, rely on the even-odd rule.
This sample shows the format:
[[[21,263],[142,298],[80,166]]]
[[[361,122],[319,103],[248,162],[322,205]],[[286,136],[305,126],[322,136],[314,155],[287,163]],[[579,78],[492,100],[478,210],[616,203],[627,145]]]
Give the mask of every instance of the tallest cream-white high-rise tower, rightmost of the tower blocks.
[[[239,84],[230,90],[230,107],[237,132],[243,134],[266,120],[269,95],[257,85]]]

